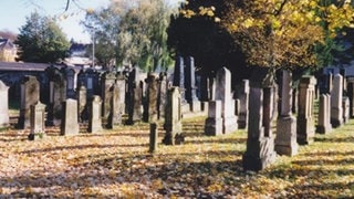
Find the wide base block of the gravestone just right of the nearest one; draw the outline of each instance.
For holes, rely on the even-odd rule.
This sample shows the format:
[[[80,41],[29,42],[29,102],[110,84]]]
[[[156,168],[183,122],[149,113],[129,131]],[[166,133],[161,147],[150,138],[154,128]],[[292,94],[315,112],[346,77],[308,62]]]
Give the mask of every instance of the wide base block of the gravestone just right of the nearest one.
[[[279,155],[294,156],[298,148],[295,117],[280,117],[277,121],[275,151]]]

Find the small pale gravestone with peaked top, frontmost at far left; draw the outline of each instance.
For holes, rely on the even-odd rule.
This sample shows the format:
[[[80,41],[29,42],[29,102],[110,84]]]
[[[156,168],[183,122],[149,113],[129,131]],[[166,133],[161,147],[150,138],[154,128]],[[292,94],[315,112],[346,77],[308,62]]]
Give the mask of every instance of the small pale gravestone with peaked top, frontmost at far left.
[[[34,140],[35,138],[43,138],[45,135],[45,105],[41,102],[31,105],[31,130],[29,135],[29,140]]]

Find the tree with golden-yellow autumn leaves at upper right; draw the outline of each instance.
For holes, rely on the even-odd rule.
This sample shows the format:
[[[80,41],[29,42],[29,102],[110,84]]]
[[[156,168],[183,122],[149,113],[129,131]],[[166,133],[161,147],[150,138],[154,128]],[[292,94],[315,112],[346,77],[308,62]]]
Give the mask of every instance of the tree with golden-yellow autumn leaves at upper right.
[[[187,1],[195,2],[195,0]],[[326,39],[353,22],[348,1],[231,0],[225,14],[214,6],[184,9],[187,19],[200,15],[220,22],[232,35],[248,66],[277,69],[317,67]],[[221,11],[219,11],[221,12]]]

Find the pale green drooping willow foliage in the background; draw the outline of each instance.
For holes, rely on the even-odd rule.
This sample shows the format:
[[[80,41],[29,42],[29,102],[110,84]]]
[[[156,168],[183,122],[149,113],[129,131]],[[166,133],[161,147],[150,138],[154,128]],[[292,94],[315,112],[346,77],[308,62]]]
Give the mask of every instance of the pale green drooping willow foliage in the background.
[[[96,57],[103,64],[138,65],[145,71],[171,64],[166,28],[173,8],[164,0],[112,1],[108,8],[87,12],[84,23],[94,28]]]

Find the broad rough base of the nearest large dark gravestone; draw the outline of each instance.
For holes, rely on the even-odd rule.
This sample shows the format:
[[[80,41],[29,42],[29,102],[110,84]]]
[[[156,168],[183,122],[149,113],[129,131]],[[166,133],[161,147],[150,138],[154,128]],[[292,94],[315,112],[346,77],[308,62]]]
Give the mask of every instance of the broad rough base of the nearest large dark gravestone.
[[[243,170],[259,171],[271,165],[277,157],[274,140],[271,137],[260,140],[247,140],[247,150],[242,156]]]

